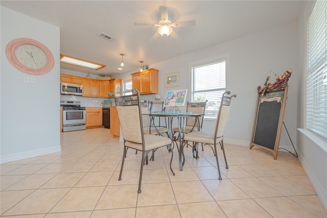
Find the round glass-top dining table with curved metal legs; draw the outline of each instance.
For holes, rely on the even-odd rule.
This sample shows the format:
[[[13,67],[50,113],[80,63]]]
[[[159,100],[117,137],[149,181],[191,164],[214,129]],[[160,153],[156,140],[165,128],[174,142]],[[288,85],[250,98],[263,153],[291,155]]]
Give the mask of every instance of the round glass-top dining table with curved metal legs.
[[[146,114],[143,114],[146,115]],[[186,118],[194,117],[196,119],[197,125],[194,128],[200,130],[199,125],[199,117],[203,116],[203,114],[193,114],[192,112],[155,112],[151,114],[147,114],[150,116],[151,123],[154,123],[155,117],[164,117],[168,118],[168,129],[169,129],[169,138],[172,140],[173,145],[176,144],[178,149],[178,160],[179,160],[179,170],[183,170],[183,154],[182,154],[182,146],[184,140],[184,134],[182,134],[182,129],[185,129],[186,126]],[[173,119],[177,119],[178,126],[178,137],[174,136],[173,132]],[[155,127],[155,126],[154,126]]]

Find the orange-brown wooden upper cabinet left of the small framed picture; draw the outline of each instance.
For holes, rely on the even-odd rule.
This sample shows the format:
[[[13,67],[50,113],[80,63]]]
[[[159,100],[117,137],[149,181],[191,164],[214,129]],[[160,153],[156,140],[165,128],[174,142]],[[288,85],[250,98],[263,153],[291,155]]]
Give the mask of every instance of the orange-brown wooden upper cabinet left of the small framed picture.
[[[132,73],[132,88],[139,91],[139,94],[157,94],[159,70],[151,68],[143,72]]]

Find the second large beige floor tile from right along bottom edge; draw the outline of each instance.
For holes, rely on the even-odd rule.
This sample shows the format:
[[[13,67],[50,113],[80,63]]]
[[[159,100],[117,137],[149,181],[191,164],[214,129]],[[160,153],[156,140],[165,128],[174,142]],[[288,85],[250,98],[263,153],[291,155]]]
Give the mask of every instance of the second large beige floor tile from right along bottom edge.
[[[219,201],[217,202],[227,217],[244,218],[244,217],[273,217],[267,213],[260,205],[256,204],[252,199]],[[275,216],[284,217],[284,216]]]

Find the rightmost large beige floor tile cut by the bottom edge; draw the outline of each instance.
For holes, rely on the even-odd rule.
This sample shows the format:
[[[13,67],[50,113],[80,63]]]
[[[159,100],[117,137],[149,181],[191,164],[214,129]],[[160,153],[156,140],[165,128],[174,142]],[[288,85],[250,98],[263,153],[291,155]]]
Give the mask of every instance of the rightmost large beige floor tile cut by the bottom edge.
[[[254,199],[273,217],[316,217],[287,197]]]

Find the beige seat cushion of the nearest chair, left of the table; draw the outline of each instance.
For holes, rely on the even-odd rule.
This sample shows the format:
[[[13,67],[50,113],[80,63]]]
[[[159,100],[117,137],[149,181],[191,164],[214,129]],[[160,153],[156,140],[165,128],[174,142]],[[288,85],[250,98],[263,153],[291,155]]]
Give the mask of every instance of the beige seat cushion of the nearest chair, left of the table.
[[[156,135],[146,135],[146,134],[144,135],[145,150],[152,150],[154,148],[169,145],[171,143],[172,143],[172,140],[168,137],[156,136]],[[125,145],[127,147],[131,147],[131,148],[134,148],[137,150],[142,150],[142,143],[126,141]]]

